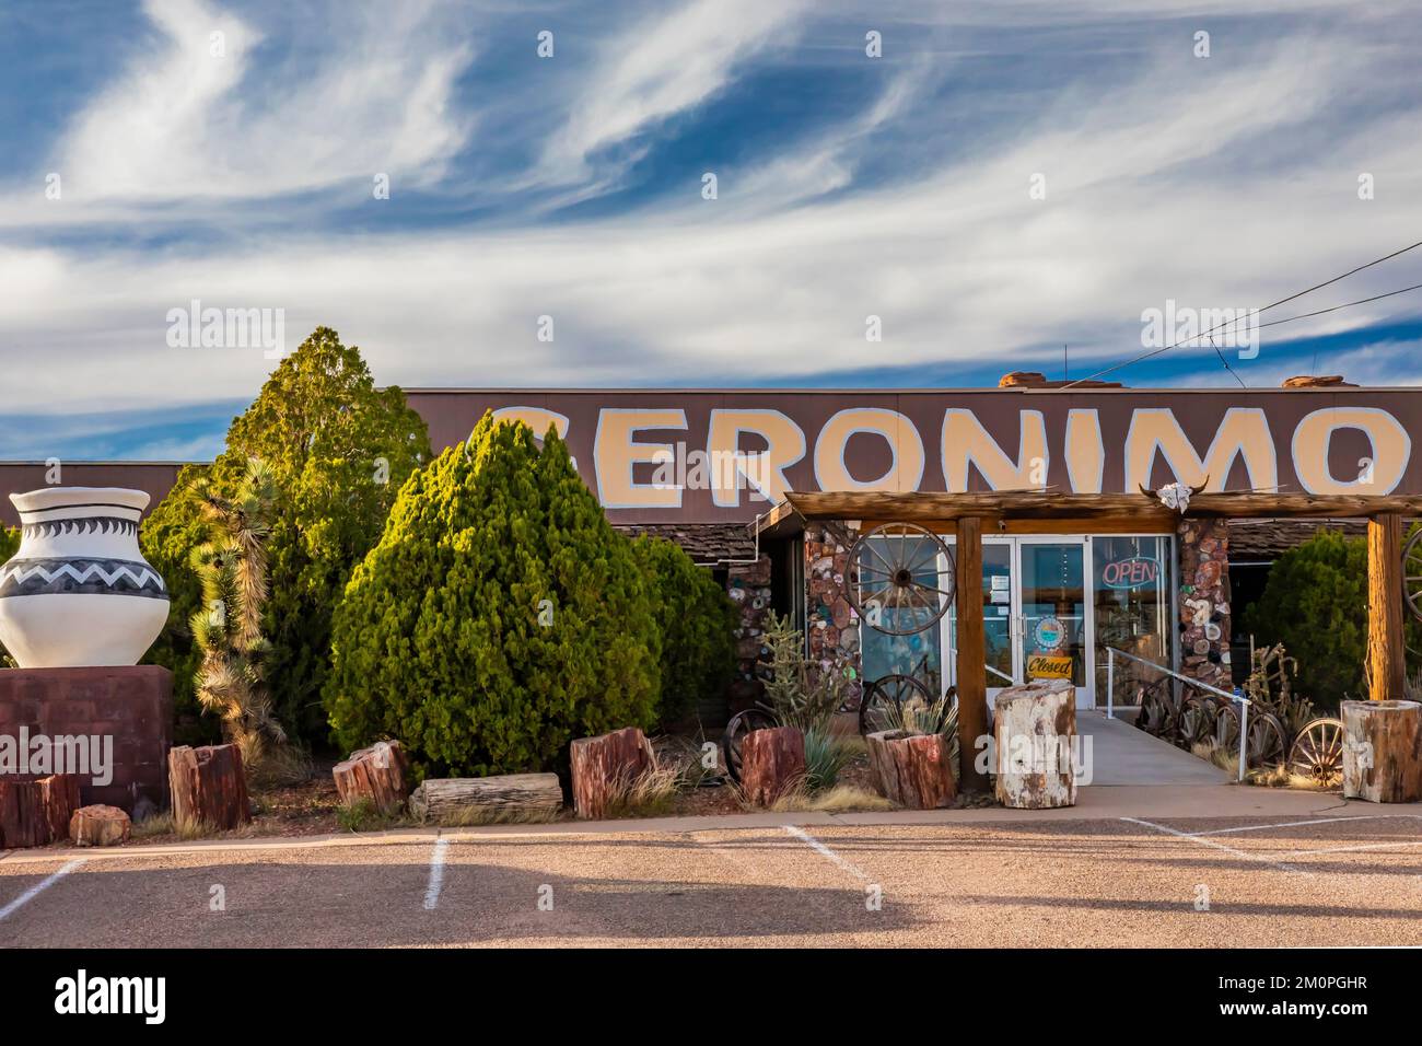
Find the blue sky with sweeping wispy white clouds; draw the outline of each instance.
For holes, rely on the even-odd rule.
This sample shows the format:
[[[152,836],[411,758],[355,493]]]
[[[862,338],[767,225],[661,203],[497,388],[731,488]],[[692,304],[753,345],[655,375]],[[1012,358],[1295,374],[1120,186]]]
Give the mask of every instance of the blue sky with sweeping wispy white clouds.
[[[1422,239],[1419,60],[1406,3],[10,0],[0,458],[212,457],[274,360],[169,344],[195,299],[407,387],[1084,377],[1143,310]],[[1422,292],[1224,352],[1416,384],[1419,347]],[[1236,383],[1197,344],[1113,377]]]

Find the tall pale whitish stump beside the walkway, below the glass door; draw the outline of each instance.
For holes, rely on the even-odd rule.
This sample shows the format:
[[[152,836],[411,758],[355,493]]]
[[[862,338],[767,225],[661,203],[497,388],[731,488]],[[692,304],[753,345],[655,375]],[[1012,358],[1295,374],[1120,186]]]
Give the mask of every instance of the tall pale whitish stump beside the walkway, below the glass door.
[[[1076,687],[1065,679],[1037,679],[1004,689],[994,702],[997,801],[1020,810],[1076,803],[1072,739]]]

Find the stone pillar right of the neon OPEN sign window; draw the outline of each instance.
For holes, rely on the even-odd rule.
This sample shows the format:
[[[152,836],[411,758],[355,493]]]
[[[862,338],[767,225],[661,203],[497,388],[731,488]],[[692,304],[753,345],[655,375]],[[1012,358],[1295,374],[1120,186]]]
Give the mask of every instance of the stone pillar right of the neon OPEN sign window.
[[[1180,672],[1230,690],[1229,521],[1182,519],[1175,534],[1180,564]]]

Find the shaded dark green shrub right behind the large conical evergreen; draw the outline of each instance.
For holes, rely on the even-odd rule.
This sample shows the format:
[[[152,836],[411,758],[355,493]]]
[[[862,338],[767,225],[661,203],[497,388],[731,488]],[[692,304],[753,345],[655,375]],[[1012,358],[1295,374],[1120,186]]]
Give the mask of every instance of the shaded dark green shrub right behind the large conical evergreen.
[[[661,656],[657,719],[677,723],[720,694],[735,672],[737,613],[725,589],[665,538],[633,542],[650,582]]]

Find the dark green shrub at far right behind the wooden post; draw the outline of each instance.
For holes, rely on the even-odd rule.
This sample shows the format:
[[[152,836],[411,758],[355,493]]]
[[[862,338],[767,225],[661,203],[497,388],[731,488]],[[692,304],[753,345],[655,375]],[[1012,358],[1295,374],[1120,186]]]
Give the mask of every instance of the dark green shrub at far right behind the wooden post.
[[[1298,662],[1298,687],[1320,709],[1367,694],[1368,545],[1338,531],[1320,529],[1274,561],[1258,602],[1244,615],[1256,643],[1283,643]],[[1406,645],[1422,649],[1411,618]]]

